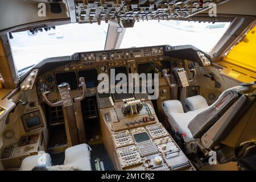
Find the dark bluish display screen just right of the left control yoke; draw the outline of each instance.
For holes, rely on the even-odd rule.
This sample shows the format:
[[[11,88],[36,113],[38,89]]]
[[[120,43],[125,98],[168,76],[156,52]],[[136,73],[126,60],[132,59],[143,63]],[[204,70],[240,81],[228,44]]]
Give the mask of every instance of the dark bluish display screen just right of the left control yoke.
[[[98,85],[97,69],[80,71],[78,75],[79,75],[79,78],[84,77],[86,88],[92,88]]]

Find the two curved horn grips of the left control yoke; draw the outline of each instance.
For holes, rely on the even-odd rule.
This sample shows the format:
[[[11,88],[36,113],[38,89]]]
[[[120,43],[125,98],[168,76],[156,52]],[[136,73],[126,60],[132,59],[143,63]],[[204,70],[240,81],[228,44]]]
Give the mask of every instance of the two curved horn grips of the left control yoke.
[[[84,100],[85,96],[86,96],[86,85],[85,85],[85,80],[84,77],[79,78],[80,84],[79,87],[82,89],[82,96],[81,97],[77,97],[77,98],[73,98],[74,102],[79,102],[81,100]],[[44,101],[46,101],[46,104],[51,106],[51,107],[56,107],[56,106],[62,106],[63,105],[63,101],[57,101],[57,102],[50,102],[47,98],[47,95],[51,93],[51,91],[46,91],[42,93],[42,97],[44,99]]]

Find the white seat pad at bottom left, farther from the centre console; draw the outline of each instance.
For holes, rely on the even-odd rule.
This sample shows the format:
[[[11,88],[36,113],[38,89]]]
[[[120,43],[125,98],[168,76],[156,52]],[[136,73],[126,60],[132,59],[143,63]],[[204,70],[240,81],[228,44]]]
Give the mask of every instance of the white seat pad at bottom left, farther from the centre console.
[[[39,151],[38,155],[31,155],[23,159],[20,170],[31,171],[34,167],[39,165],[51,167],[51,156],[48,153]]]

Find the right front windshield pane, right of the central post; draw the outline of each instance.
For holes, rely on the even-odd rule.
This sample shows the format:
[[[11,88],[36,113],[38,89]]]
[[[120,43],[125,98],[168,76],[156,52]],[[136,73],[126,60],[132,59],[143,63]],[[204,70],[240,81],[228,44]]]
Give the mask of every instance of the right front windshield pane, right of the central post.
[[[202,51],[210,52],[230,23],[199,23],[179,20],[140,20],[133,28],[126,28],[121,48],[169,44],[191,44]]]

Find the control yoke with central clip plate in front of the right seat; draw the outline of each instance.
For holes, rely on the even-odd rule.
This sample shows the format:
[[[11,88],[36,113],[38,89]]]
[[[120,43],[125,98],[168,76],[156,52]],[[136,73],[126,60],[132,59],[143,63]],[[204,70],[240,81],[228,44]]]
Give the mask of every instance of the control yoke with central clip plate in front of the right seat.
[[[179,86],[188,86],[189,84],[193,84],[196,81],[196,69],[195,63],[191,63],[188,65],[189,71],[192,73],[192,78],[188,80],[187,73],[184,68],[174,68],[170,75],[167,74],[167,70],[163,69],[162,73],[166,83],[170,88],[175,88]],[[173,81],[173,83],[171,83]]]

